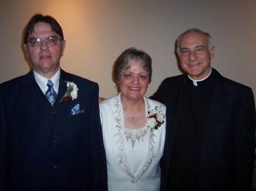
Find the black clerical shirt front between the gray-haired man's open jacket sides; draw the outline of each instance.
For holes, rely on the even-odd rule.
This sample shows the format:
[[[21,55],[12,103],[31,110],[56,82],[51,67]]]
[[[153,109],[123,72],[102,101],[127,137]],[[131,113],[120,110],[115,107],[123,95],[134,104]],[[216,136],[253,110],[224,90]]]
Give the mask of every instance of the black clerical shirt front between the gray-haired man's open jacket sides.
[[[174,148],[167,190],[197,190],[201,145],[214,91],[212,72],[194,86],[187,77],[177,114]]]

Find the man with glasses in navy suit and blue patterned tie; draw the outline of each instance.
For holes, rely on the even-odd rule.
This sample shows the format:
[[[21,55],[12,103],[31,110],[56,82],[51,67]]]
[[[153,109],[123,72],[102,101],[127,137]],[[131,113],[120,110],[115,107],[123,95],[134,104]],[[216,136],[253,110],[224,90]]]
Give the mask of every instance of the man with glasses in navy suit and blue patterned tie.
[[[98,84],[60,69],[63,31],[34,15],[33,69],[0,84],[0,190],[108,190]]]

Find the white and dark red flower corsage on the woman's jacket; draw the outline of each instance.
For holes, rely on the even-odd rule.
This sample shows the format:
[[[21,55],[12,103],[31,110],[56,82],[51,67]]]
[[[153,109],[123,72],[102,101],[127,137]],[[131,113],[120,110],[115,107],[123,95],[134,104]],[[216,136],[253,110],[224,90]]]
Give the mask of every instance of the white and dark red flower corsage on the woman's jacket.
[[[151,129],[158,129],[164,123],[164,114],[161,107],[156,106],[155,109],[152,109],[148,112],[148,121],[147,126]]]

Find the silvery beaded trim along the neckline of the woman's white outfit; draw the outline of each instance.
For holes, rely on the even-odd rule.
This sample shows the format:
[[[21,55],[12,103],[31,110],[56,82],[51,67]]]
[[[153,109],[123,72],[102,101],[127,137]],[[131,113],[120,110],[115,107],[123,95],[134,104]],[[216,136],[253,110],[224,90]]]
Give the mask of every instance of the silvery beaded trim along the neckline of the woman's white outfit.
[[[152,162],[152,159],[154,158],[154,150],[155,150],[155,141],[154,141],[154,137],[156,137],[156,135],[154,134],[154,128],[149,128],[147,125],[144,126],[144,128],[142,128],[141,131],[133,131],[133,130],[129,130],[127,128],[124,127],[124,116],[123,116],[123,111],[122,111],[122,106],[121,106],[121,100],[120,100],[120,95],[119,94],[116,97],[116,102],[115,102],[115,107],[117,108],[117,110],[114,112],[114,114],[117,114],[117,117],[115,117],[115,121],[117,122],[117,125],[115,126],[115,128],[118,129],[118,132],[115,134],[118,136],[118,141],[117,143],[119,143],[119,147],[118,147],[118,158],[119,158],[119,164],[123,164],[123,166],[125,167],[125,172],[127,173],[127,175],[129,175],[132,179],[131,182],[135,183],[137,181],[137,179],[139,177],[141,177],[143,175],[143,173],[146,171],[146,169],[149,167],[149,165]],[[146,97],[144,97],[144,101],[145,101],[145,107],[146,107],[146,113],[148,113],[147,111],[150,111],[150,105],[148,104],[148,100]],[[148,115],[148,114],[147,114]],[[148,117],[148,116],[146,116]],[[125,145],[125,139],[128,142],[129,140],[131,140],[131,145],[132,148],[135,145],[136,140],[137,141],[143,141],[143,138],[147,135],[147,133],[150,133],[149,137],[148,137],[148,148],[147,148],[147,156],[146,156],[146,160],[144,161],[141,170],[138,172],[137,175],[133,175],[131,173],[129,164],[128,164],[128,160],[127,160],[127,153],[126,153],[126,145]]]

